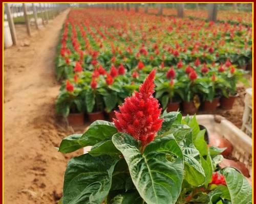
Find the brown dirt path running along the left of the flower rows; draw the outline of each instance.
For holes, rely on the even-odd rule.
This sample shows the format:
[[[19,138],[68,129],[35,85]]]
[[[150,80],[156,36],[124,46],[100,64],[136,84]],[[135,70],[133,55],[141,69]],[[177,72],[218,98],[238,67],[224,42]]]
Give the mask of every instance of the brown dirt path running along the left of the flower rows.
[[[68,11],[20,46],[5,50],[4,194],[6,204],[56,203],[67,160],[54,148],[68,134],[57,123],[55,47]],[[26,35],[24,35],[26,36]],[[24,42],[26,46],[24,46]]]

